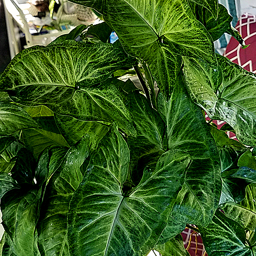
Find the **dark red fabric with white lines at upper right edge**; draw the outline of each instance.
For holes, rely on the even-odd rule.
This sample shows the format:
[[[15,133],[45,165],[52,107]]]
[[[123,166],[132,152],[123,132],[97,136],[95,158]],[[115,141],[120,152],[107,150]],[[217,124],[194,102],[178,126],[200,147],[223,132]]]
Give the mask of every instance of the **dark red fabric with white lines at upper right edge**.
[[[256,73],[256,16],[248,13],[243,14],[238,19],[236,29],[243,37],[246,45],[249,46],[242,49],[238,41],[232,37],[224,56],[247,71]]]

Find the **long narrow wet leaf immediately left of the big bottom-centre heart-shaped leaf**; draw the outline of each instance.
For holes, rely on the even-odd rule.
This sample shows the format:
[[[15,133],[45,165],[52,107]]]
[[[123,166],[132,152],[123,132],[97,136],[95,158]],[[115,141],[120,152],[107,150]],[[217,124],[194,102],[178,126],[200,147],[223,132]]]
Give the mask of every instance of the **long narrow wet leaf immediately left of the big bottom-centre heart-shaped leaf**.
[[[62,162],[47,184],[37,224],[41,256],[69,255],[67,243],[69,202],[82,181],[83,173],[80,167],[88,156],[88,145],[89,137],[83,137],[65,155],[62,151],[57,153],[55,151],[54,157],[58,157]],[[50,164],[52,165],[51,162]]]

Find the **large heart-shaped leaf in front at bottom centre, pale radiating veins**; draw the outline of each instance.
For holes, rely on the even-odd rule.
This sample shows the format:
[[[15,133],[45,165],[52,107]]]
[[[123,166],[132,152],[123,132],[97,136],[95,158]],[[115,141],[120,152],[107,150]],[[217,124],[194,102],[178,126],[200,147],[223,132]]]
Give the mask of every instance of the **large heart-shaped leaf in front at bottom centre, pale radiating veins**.
[[[101,140],[100,150],[91,157],[87,174],[70,202],[68,239],[72,256],[146,255],[166,226],[169,208],[191,163],[189,155],[168,151],[153,174],[145,169],[136,188],[122,191],[129,150],[118,136],[123,145],[120,157],[119,150],[109,142],[116,136],[117,131]]]

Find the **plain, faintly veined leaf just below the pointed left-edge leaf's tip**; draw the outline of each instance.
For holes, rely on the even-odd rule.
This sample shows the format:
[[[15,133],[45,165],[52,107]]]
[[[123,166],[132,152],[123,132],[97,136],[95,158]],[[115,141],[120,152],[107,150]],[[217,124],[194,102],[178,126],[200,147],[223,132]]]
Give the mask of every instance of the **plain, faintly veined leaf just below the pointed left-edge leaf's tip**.
[[[23,130],[22,137],[25,146],[36,159],[47,146],[69,146],[61,134],[45,130]]]

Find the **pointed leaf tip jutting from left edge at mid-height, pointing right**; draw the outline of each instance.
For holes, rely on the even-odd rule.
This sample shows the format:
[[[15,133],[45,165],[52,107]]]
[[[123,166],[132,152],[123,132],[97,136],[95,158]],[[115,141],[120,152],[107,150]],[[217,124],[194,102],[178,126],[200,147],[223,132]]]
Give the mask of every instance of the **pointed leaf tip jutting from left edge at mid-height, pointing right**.
[[[8,136],[27,128],[39,128],[39,125],[17,105],[0,102],[0,136]]]

